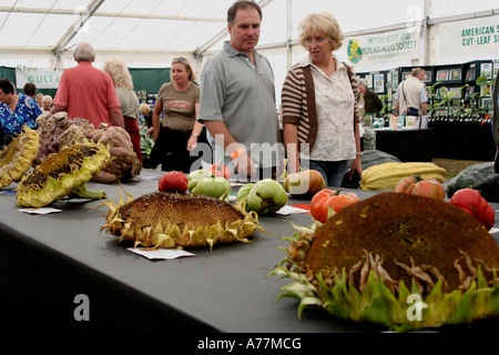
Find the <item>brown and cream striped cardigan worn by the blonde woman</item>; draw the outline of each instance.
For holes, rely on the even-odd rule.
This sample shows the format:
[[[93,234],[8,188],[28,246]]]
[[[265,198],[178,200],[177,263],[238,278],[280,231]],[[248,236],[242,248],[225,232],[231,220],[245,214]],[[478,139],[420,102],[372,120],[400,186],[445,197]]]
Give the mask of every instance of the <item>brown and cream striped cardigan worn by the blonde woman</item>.
[[[355,97],[354,132],[358,129],[358,84],[353,70],[344,63]],[[281,93],[283,124],[296,124],[298,143],[308,143],[308,154],[317,138],[317,108],[310,65],[294,65],[287,73]],[[299,145],[299,144],[298,144]]]

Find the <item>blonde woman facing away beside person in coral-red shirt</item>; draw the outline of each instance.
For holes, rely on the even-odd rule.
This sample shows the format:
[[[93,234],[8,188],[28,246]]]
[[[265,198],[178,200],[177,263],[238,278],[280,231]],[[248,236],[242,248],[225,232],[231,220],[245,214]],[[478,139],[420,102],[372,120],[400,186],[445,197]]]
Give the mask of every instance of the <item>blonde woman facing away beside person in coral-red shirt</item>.
[[[119,58],[109,59],[102,68],[114,83],[121,112],[125,123],[125,130],[132,139],[133,151],[142,163],[141,134],[139,129],[139,98],[133,91],[132,75],[126,63]]]

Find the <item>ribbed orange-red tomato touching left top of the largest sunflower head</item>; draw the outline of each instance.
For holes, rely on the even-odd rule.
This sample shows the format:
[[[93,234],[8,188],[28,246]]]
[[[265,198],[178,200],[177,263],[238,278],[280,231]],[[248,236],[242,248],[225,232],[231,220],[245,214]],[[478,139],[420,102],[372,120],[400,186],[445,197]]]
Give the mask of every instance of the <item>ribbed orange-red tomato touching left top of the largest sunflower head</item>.
[[[355,193],[346,192],[340,194],[342,190],[323,189],[312,197],[310,214],[314,220],[325,223],[333,214],[333,211],[339,212],[342,209],[360,201]]]

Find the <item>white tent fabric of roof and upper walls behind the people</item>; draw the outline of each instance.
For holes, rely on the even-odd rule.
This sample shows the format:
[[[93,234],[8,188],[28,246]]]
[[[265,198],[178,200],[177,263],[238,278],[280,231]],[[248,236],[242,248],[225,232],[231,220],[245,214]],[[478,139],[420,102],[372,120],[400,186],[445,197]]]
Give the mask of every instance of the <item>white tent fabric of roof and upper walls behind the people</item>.
[[[130,68],[167,68],[171,59],[189,57],[201,71],[211,53],[227,40],[226,11],[234,0],[0,0],[0,65],[65,69],[74,67],[72,52],[80,42],[96,50],[95,65],[120,57]],[[499,43],[488,51],[439,50],[440,24],[470,19],[489,21],[499,41],[497,0],[256,0],[263,9],[257,49],[271,60],[276,88],[287,69],[306,55],[298,44],[298,23],[312,12],[328,11],[347,39],[369,33],[401,36],[416,29],[417,51],[397,60],[360,61],[355,70],[373,71],[408,65],[436,65],[480,59],[499,59]],[[475,22],[473,22],[475,23]],[[469,27],[481,24],[462,24]],[[477,32],[481,30],[477,28]],[[471,29],[475,33],[475,29]],[[459,37],[459,34],[456,34]],[[475,36],[478,41],[479,36]],[[383,37],[381,37],[383,38]],[[490,38],[490,37],[489,37]],[[338,50],[349,60],[346,48]],[[485,47],[481,47],[485,48]],[[374,57],[376,58],[376,57]]]

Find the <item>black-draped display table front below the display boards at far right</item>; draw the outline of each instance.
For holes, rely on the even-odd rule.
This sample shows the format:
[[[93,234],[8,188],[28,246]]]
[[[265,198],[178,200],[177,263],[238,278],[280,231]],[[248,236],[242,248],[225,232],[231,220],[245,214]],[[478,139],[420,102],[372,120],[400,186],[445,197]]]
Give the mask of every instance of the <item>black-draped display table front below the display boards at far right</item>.
[[[435,158],[493,161],[496,156],[490,122],[430,120],[428,126],[435,130]]]

